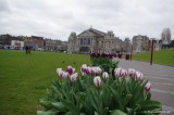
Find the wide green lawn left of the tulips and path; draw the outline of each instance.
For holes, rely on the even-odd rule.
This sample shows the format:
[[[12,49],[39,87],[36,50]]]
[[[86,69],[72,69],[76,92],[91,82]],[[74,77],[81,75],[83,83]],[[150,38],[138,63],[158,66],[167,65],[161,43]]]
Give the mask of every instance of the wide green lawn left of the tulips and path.
[[[0,115],[35,115],[57,67],[72,65],[79,72],[84,63],[91,63],[88,55],[0,50]]]

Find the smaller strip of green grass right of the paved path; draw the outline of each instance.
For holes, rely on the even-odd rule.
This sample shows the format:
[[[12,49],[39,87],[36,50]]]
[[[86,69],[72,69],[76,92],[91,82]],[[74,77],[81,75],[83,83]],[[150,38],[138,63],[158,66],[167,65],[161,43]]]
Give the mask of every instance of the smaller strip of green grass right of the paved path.
[[[133,54],[133,60],[150,62],[150,52]],[[154,51],[153,63],[174,65],[174,49]]]

